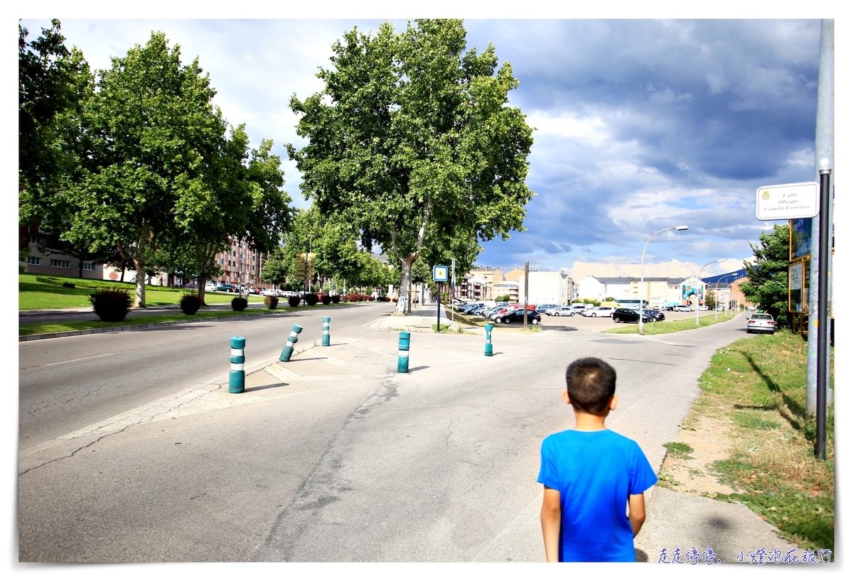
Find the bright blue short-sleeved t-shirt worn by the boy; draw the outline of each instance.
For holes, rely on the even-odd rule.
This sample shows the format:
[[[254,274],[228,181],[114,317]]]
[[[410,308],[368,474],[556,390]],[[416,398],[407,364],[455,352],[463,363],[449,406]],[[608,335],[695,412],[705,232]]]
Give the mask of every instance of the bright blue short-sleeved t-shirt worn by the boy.
[[[657,480],[640,446],[609,429],[545,438],[538,481],[560,491],[560,561],[636,561],[628,496]]]

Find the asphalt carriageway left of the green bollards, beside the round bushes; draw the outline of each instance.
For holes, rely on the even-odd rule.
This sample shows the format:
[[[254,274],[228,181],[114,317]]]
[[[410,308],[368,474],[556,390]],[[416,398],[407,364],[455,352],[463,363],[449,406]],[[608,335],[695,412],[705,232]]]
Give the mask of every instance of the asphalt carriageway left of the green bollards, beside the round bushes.
[[[360,303],[270,317],[207,321],[19,343],[19,449],[103,417],[209,383],[229,370],[229,337],[247,340],[247,365],[281,353],[293,323],[300,346],[318,339],[321,317],[346,334],[393,303]]]

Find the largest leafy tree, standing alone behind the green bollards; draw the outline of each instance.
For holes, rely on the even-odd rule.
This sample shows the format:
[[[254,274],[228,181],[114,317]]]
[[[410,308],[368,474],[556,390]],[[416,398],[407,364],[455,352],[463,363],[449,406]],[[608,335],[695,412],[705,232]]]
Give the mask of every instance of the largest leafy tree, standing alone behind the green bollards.
[[[290,157],[323,216],[357,227],[400,265],[401,290],[425,248],[508,238],[521,230],[532,129],[508,92],[518,86],[494,47],[466,52],[461,20],[416,20],[395,34],[354,28],[333,44],[320,93],[299,101]],[[403,314],[403,302],[397,314]]]

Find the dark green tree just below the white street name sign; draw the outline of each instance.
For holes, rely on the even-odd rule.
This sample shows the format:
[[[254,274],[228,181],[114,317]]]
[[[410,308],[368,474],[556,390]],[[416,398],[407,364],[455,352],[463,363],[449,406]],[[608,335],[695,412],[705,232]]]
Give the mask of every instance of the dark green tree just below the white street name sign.
[[[787,224],[774,224],[772,232],[758,234],[758,244],[750,243],[755,262],[744,261],[748,280],[740,284],[746,300],[772,314],[780,326],[787,321],[788,244]]]

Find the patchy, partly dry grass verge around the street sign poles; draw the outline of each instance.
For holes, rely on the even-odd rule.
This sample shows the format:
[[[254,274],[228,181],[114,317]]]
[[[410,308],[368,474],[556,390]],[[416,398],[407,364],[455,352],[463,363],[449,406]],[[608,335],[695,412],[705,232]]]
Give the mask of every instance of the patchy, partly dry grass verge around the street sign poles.
[[[717,418],[728,430],[728,457],[709,468],[734,492],[714,498],[743,503],[801,548],[834,551],[834,412],[827,414],[823,462],[815,458],[815,420],[805,410],[806,349],[803,338],[786,332],[718,349],[682,427]],[[687,452],[670,445],[670,452]]]

